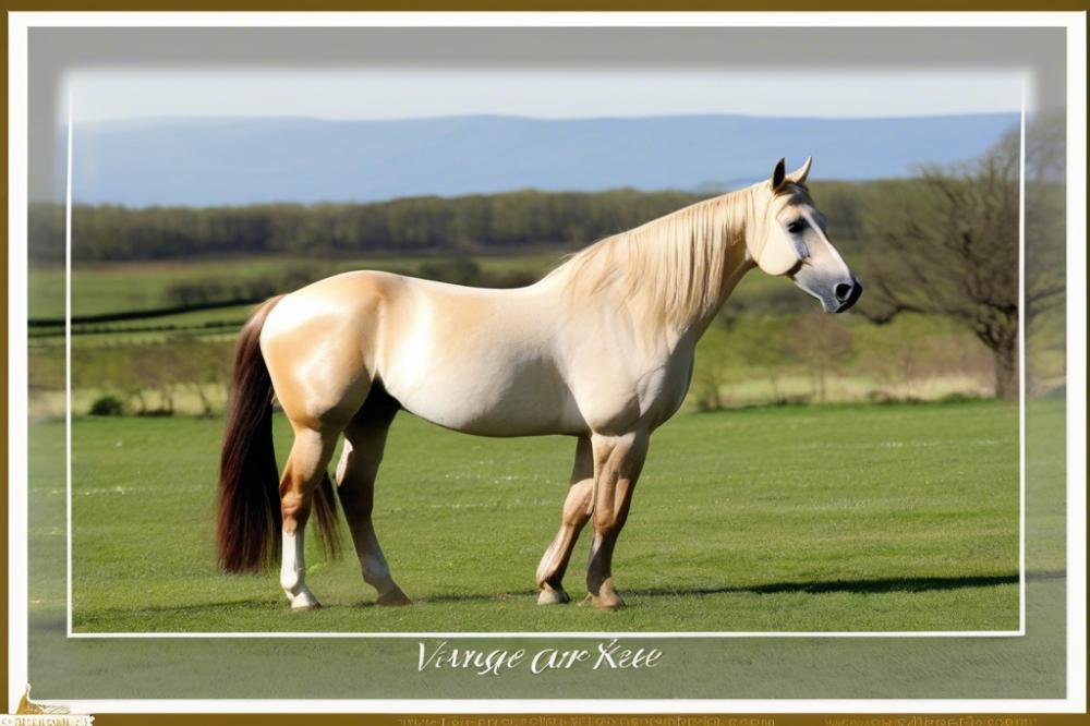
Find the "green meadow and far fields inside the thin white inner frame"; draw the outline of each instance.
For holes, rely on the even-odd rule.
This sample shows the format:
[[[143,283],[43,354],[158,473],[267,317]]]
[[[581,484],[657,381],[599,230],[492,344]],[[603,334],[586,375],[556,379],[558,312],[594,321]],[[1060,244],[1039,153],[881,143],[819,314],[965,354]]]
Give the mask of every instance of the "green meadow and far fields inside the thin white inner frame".
[[[554,247],[461,263],[441,255],[82,263],[73,295],[78,314],[95,315],[169,307],[172,286],[209,279],[354,268],[458,274],[464,259],[472,274],[533,278],[561,255]],[[43,268],[33,281],[32,315],[55,315],[63,277]],[[325,605],[316,613],[288,613],[272,573],[218,574],[211,521],[222,421],[191,414],[207,401],[222,406],[230,342],[249,307],[78,324],[73,627],[1016,629],[1017,410],[966,399],[988,392],[986,353],[940,318],[906,315],[874,326],[810,307],[787,281],[753,274],[702,340],[686,412],[653,440],[618,548],[618,588],[630,607],[606,620],[577,605],[540,608],[534,601],[533,572],[558,524],[573,443],[472,438],[409,414],[391,434],[376,527],[413,606],[372,606],[354,558],[325,560],[316,545],[310,582]],[[63,338],[56,328],[39,332],[32,344],[32,383],[41,384],[32,396],[39,449],[32,460],[51,461],[62,456]],[[198,355],[198,341],[209,343],[199,348],[199,365],[218,371],[204,384],[184,365]],[[147,383],[126,388],[134,374]],[[102,395],[128,397],[129,413],[134,395],[158,413],[169,396],[174,415],[84,415]],[[897,400],[912,402],[889,402]],[[737,408],[767,401],[834,403]],[[716,412],[693,413],[708,409]],[[280,419],[277,439],[283,457],[290,435]],[[37,492],[53,503],[59,494],[56,482]],[[350,547],[347,532],[343,540]],[[567,580],[577,600],[588,543],[584,535]],[[57,606],[43,602],[49,612]]]

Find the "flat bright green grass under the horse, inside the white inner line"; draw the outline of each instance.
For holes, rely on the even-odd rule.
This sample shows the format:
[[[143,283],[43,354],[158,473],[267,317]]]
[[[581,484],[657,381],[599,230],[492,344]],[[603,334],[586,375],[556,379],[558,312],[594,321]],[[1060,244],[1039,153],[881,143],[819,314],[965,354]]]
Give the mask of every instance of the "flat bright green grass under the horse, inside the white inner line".
[[[354,558],[324,561],[312,546],[308,582],[325,607],[291,613],[275,574],[215,570],[221,425],[75,420],[76,631],[1018,627],[1018,429],[1009,404],[677,416],[652,441],[615,558],[629,607],[611,614],[535,604],[533,572],[558,523],[570,439],[473,438],[402,414],[375,520],[415,604],[372,606]],[[62,431],[39,424],[35,440],[56,447]],[[63,491],[33,496],[56,503]],[[569,569],[573,595],[583,592],[588,542],[584,533]]]

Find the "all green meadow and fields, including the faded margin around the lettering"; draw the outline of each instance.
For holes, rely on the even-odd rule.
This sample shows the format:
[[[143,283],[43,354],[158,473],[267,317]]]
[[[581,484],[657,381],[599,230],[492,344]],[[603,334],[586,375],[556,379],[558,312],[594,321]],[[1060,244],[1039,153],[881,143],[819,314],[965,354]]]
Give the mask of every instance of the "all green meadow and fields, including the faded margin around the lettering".
[[[470,259],[493,279],[512,279],[544,274],[561,254],[554,249],[457,263],[441,255],[332,262],[337,269],[429,277],[461,275]],[[75,312],[170,306],[178,283],[259,281],[253,276],[284,270],[323,276],[330,264],[284,256],[81,263]],[[63,278],[57,270],[35,270],[32,294],[43,289],[36,285],[39,273],[52,293],[39,299],[32,315],[55,315],[49,305],[58,302]],[[284,289],[292,287],[298,286]],[[762,275],[743,280],[702,339],[689,401],[653,440],[616,556],[627,608],[597,613],[577,604],[535,603],[533,572],[558,523],[571,440],[473,438],[402,414],[380,475],[376,523],[414,604],[375,607],[354,558],[326,560],[312,542],[310,583],[324,607],[291,613],[275,573],[222,576],[213,558],[218,415],[231,342],[247,313],[247,305],[239,305],[74,326],[76,633],[525,631],[591,638],[610,631],[630,632],[629,642],[641,642],[642,633],[656,631],[1019,626],[1017,409],[979,398],[991,392],[986,351],[971,334],[934,316],[903,315],[883,326],[851,313],[823,316],[794,286]],[[1058,316],[1030,330],[1030,379],[1043,384],[1038,394],[1063,380],[1063,347],[1055,342],[1063,340],[1062,323]],[[29,366],[36,693],[499,694],[498,681],[416,673],[414,640],[65,640],[64,449],[58,418],[64,411],[63,337],[48,326],[38,331],[46,335],[32,338]],[[1063,673],[1056,669],[1065,621],[1062,392],[1030,404],[1026,637],[643,640],[674,643],[671,658],[685,642],[688,665],[616,681],[611,692],[1062,694]],[[144,404],[138,399],[146,399],[148,413],[161,414],[168,395],[173,415],[132,415]],[[86,415],[102,396],[123,399],[128,415]],[[815,404],[765,406],[772,401]],[[694,413],[702,410],[712,412]],[[281,459],[289,443],[278,419]],[[566,581],[577,600],[589,539],[584,533]],[[343,544],[351,546],[347,532]],[[156,645],[147,648],[148,642]],[[281,645],[286,642],[291,646]],[[270,662],[298,668],[299,678],[290,686],[269,681],[264,674]],[[785,669],[785,663],[794,665]],[[719,676],[694,679],[697,671]],[[557,673],[547,681],[505,679],[502,694],[601,698],[601,685],[578,671]]]

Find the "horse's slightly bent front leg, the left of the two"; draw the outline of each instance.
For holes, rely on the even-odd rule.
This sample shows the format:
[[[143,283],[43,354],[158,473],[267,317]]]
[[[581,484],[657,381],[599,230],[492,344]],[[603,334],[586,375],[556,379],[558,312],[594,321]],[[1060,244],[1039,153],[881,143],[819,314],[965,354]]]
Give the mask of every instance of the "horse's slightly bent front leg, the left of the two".
[[[576,447],[576,464],[571,470],[571,486],[564,501],[560,531],[556,533],[537,566],[537,589],[541,591],[537,595],[538,605],[556,605],[570,600],[564,591],[564,573],[568,569],[568,560],[571,559],[571,550],[576,547],[579,533],[591,518],[593,488],[594,457],[591,441],[580,438]]]

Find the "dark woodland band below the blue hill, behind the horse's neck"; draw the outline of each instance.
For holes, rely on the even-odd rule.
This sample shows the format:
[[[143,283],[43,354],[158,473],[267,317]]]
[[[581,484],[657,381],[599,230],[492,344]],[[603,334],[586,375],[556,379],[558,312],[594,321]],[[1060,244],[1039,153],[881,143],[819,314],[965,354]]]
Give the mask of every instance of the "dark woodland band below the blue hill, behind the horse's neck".
[[[840,238],[858,233],[860,186],[821,185]],[[370,204],[262,204],[244,207],[76,205],[72,256],[83,262],[177,259],[213,255],[516,252],[530,245],[576,247],[705,198],[686,192],[540,192]],[[64,209],[32,205],[29,252],[64,257]]]

